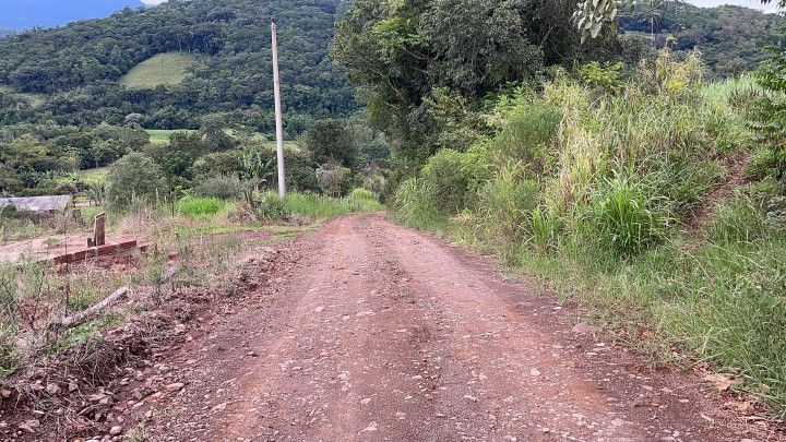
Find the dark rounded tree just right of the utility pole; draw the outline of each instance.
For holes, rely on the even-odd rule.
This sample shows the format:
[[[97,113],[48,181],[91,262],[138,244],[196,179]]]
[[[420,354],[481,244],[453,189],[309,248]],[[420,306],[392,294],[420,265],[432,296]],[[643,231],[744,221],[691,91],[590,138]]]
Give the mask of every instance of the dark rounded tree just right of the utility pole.
[[[355,165],[355,139],[352,131],[340,120],[317,121],[306,131],[303,143],[319,164],[334,163],[347,167]]]

